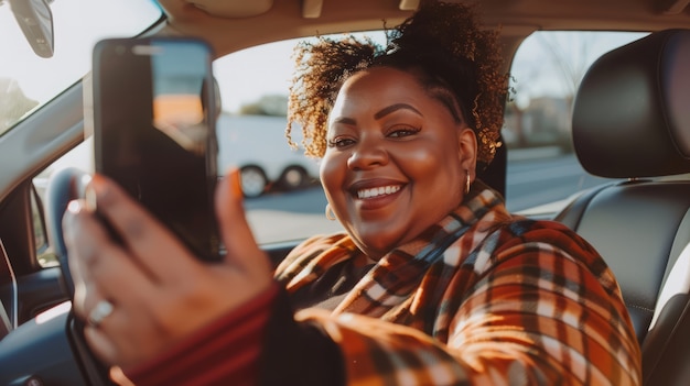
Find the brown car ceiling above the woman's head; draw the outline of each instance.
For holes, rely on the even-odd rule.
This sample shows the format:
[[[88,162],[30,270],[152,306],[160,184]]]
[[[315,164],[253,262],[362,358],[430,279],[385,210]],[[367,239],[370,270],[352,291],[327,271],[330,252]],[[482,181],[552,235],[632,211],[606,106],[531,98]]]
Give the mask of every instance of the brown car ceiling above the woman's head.
[[[465,2],[449,0],[450,2]],[[410,15],[419,0],[159,0],[162,34],[206,38],[217,56],[308,35],[380,29]],[[500,27],[506,54],[537,30],[656,31],[690,27],[690,0],[483,0],[487,27]],[[509,62],[509,60],[508,60]]]

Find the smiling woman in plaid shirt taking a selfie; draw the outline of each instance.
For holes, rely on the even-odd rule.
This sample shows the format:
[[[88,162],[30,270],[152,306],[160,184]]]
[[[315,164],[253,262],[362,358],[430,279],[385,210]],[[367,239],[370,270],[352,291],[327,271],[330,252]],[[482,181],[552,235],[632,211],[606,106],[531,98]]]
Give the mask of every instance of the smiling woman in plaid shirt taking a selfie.
[[[138,385],[639,384],[599,253],[562,224],[511,214],[479,177],[508,77],[474,11],[423,2],[386,46],[298,46],[288,122],[322,157],[344,232],[302,241],[277,267],[246,221],[237,168],[218,185],[227,253],[213,265],[94,177],[91,205],[72,201],[63,229],[96,355]]]

